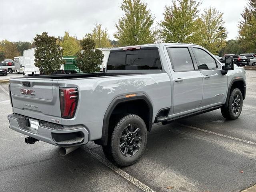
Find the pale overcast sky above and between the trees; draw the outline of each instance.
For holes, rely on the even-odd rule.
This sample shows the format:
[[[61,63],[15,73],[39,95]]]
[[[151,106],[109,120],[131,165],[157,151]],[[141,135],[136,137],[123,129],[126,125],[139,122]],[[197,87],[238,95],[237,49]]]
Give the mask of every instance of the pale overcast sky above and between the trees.
[[[108,28],[110,39],[114,40],[115,23],[122,16],[119,0],[0,0],[0,40],[31,41],[36,34],[48,32],[51,36],[70,35],[81,39],[90,33],[95,22]],[[148,8],[163,20],[164,6],[171,0],[147,0]],[[210,6],[223,12],[228,40],[238,36],[238,21],[246,6],[246,0],[203,0],[199,10]]]

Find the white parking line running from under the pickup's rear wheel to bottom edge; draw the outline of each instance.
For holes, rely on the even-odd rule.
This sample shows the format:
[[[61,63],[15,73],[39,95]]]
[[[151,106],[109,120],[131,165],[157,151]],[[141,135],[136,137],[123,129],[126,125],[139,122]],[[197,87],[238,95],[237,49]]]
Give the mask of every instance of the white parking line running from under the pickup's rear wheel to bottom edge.
[[[88,152],[89,154],[94,156],[94,158],[98,159],[100,162],[102,162],[108,168],[112,169],[114,172],[116,172],[117,174],[119,174],[120,176],[125,178],[126,180],[130,181],[132,184],[134,184],[135,186],[137,186],[141,190],[143,190],[145,192],[155,192],[152,188],[146,186],[144,183],[140,182],[139,180],[137,180],[133,176],[131,176],[128,173],[126,173],[125,171],[123,171],[122,169],[113,165],[107,159],[103,158],[102,156],[100,156],[99,154],[95,153],[94,151],[88,149],[87,147],[86,147],[86,152]]]

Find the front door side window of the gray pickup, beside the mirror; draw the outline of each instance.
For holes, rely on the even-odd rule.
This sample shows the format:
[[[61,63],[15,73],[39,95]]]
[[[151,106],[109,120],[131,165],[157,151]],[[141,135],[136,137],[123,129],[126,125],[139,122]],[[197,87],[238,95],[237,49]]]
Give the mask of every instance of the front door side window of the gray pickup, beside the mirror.
[[[194,48],[195,56],[198,60],[198,69],[216,69],[216,62],[207,52]]]

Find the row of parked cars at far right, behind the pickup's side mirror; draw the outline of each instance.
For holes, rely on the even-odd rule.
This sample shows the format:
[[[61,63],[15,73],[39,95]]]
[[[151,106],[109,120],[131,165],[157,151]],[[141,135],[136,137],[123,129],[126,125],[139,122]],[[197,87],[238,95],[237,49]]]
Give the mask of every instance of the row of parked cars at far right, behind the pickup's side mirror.
[[[234,63],[238,66],[256,66],[256,54],[249,53],[249,54],[225,54],[223,57],[219,57],[216,55],[215,57],[220,60],[220,62],[225,62],[226,56],[232,56]]]

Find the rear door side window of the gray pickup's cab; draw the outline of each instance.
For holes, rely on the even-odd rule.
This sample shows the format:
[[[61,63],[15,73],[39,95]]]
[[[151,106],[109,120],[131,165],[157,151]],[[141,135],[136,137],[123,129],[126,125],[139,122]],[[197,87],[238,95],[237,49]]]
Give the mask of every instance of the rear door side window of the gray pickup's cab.
[[[186,47],[169,48],[172,68],[175,72],[194,70],[194,65]]]

